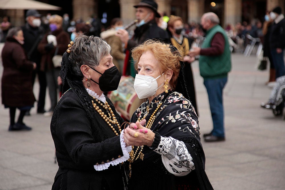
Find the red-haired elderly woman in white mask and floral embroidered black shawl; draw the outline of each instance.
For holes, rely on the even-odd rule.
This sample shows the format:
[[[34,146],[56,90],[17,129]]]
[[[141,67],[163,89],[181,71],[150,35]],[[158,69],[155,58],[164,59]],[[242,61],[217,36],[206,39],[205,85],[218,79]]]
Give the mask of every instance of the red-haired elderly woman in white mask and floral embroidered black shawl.
[[[125,128],[128,189],[213,189],[205,173],[198,117],[187,92],[177,48],[148,40],[133,49],[134,87],[146,101]],[[176,89],[182,89],[176,91]]]

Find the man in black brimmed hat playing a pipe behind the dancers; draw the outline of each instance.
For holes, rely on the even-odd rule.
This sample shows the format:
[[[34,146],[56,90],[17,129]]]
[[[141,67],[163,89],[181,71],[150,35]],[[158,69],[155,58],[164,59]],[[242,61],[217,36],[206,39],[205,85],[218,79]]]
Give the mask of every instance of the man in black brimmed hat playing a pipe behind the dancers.
[[[162,42],[169,43],[169,35],[165,30],[157,26],[155,18],[159,18],[160,14],[157,12],[157,4],[152,0],[142,0],[138,5],[134,5],[136,8],[136,19],[138,20],[134,31],[134,36],[129,39],[129,33],[125,29],[118,29],[117,36],[121,38],[121,41],[125,44],[127,50],[131,50],[138,44],[143,43],[148,39],[157,39]],[[132,75],[135,77],[135,69],[131,67],[131,55],[129,54],[129,61],[127,63],[126,70],[123,71],[125,75]],[[125,63],[126,64],[126,63]]]

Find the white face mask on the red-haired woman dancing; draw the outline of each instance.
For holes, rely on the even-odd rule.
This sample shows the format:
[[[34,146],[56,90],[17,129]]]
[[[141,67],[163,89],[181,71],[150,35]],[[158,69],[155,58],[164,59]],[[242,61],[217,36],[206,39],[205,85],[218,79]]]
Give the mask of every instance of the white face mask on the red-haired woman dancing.
[[[163,75],[164,73],[162,73]],[[153,96],[157,89],[159,89],[164,83],[162,83],[159,87],[157,85],[156,79],[158,79],[161,75],[154,78],[148,75],[138,75],[136,74],[134,88],[139,97],[139,99],[148,98]]]

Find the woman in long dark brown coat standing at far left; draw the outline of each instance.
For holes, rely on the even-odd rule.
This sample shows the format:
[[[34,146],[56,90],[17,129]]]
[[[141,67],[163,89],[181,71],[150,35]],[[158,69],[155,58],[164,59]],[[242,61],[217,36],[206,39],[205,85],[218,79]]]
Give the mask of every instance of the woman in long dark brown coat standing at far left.
[[[21,28],[11,28],[2,50],[4,67],[1,83],[2,103],[5,108],[10,109],[9,131],[32,129],[23,123],[23,118],[35,101],[32,91],[32,70],[36,68],[36,63],[28,61],[22,47],[23,43]],[[16,108],[21,111],[17,123],[15,123]]]

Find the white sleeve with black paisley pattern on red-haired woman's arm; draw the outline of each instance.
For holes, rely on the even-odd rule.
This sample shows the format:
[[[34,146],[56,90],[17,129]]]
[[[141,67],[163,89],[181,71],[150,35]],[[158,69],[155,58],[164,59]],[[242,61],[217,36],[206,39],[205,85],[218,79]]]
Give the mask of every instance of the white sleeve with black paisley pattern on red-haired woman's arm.
[[[170,173],[184,176],[195,169],[192,156],[184,142],[172,137],[161,137],[158,147],[154,150],[162,157],[162,163]]]

